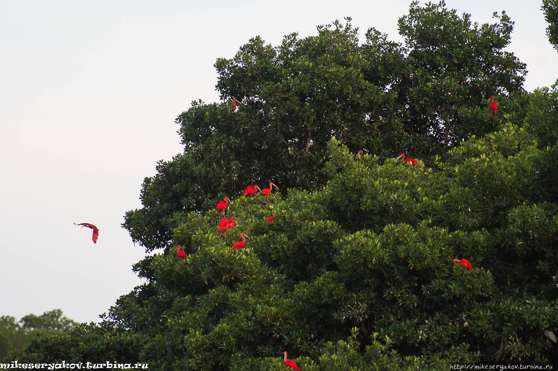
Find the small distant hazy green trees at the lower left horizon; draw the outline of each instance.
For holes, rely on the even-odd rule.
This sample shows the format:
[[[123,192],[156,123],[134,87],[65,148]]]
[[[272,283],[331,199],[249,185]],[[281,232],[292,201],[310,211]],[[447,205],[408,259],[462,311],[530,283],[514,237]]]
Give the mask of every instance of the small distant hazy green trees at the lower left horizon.
[[[0,360],[11,350],[21,351],[35,336],[65,335],[78,322],[62,316],[60,309],[44,312],[40,316],[29,314],[20,321],[15,317],[0,317]]]

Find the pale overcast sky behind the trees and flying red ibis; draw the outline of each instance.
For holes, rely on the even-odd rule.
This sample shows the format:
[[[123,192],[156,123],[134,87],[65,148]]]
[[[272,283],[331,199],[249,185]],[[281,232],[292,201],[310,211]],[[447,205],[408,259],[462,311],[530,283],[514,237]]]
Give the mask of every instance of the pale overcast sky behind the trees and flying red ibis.
[[[145,256],[121,227],[158,160],[182,152],[175,118],[218,102],[219,57],[254,36],[284,35],[352,17],[402,41],[406,1],[0,0],[0,315],[60,308],[98,321],[142,280]],[[424,2],[421,2],[424,4]],[[527,64],[527,90],[558,78],[539,1],[448,0],[493,23],[515,22],[508,51]],[[100,229],[97,244],[92,230]]]

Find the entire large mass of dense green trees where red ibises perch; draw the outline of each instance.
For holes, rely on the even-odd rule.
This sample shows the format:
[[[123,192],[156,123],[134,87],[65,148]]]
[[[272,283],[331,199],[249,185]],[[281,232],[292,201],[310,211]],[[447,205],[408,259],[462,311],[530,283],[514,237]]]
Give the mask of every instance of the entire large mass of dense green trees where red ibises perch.
[[[522,90],[525,65],[502,51],[505,14],[468,19],[412,3],[405,46],[373,29],[359,45],[335,23],[277,48],[254,38],[218,60],[224,103],[179,116],[184,155],[158,164],[144,208],[126,215],[134,240],[162,250],[134,266],[147,283],[99,325],[11,359],[165,370],[285,370],[283,351],[302,370],[556,362],[543,333],[558,329],[558,90]],[[242,196],[269,181],[281,188],[269,205]],[[236,218],[226,238],[224,196]],[[251,240],[232,249],[242,232]],[[473,269],[453,263],[462,258]]]

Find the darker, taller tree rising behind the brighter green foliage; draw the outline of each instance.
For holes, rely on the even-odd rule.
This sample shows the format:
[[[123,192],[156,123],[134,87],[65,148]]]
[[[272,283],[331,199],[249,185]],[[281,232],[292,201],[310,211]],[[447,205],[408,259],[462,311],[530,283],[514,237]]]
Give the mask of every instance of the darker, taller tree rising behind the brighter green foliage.
[[[247,183],[318,190],[330,179],[332,136],[381,161],[402,152],[426,160],[493,131],[488,99],[496,95],[506,109],[526,73],[502,51],[513,22],[498,19],[472,27],[469,15],[461,19],[443,2],[412,3],[400,20],[405,47],[374,29],[359,46],[357,28],[339,22],[277,47],[253,38],[215,64],[224,102],[193,103],[177,118],[185,152],[158,163],[143,182],[144,207],[129,211],[124,227],[151,251],[169,244],[175,213],[206,210],[207,200]]]

